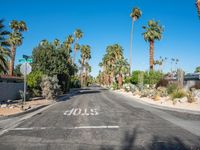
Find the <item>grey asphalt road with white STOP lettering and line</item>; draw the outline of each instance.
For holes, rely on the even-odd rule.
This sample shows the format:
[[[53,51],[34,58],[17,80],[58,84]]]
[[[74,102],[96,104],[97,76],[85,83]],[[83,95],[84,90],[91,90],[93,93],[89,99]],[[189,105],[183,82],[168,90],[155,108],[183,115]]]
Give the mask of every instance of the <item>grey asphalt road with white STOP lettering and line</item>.
[[[198,115],[183,117],[93,86],[1,135],[0,150],[197,150],[198,125]]]

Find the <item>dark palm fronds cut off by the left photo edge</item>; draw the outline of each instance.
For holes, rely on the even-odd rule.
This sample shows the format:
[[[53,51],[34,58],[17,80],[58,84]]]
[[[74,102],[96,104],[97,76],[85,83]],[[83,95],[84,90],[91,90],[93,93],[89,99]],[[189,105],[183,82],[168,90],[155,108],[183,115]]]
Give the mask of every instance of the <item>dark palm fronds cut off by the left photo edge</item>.
[[[0,73],[7,73],[8,70],[8,57],[10,56],[9,49],[7,48],[6,36],[9,34],[6,31],[3,20],[0,20]]]

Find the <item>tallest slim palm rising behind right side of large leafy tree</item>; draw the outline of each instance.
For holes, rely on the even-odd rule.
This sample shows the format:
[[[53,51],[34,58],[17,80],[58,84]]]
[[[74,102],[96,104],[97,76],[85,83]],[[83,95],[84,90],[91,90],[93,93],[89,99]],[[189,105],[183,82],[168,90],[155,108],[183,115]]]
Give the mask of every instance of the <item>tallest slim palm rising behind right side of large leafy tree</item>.
[[[77,51],[80,49],[80,46],[78,44],[78,40],[81,39],[83,37],[83,32],[80,30],[80,29],[77,29],[75,32],[74,32],[74,36],[76,38],[75,40],[75,45],[74,45],[74,60],[73,60],[73,64],[75,63],[76,61],[76,53]]]

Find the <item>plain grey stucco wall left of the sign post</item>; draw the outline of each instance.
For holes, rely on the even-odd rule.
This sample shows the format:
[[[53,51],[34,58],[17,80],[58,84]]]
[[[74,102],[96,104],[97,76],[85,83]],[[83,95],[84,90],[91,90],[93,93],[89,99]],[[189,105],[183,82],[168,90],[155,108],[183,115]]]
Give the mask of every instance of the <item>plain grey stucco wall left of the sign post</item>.
[[[0,82],[0,101],[20,99],[19,90],[23,90],[23,83]]]

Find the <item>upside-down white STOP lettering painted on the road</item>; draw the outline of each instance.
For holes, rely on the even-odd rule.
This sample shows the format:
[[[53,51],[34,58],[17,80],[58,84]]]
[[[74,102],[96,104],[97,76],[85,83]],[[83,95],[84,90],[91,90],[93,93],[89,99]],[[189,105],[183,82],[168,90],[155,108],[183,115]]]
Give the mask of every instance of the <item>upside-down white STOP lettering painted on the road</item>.
[[[80,109],[80,108],[72,108],[71,110],[67,110],[64,112],[65,116],[97,116],[99,115],[97,109]]]

